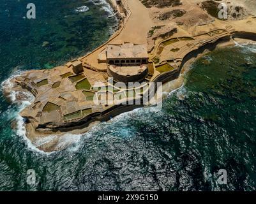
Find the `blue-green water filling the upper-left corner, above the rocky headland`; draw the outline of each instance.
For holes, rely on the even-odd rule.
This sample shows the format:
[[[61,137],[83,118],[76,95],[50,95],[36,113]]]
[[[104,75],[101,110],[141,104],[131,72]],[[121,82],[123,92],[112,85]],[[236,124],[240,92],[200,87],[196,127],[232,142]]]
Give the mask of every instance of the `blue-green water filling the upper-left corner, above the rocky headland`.
[[[30,1],[0,2],[0,78],[15,70],[53,68],[82,56],[114,32],[116,17],[106,1],[35,0],[36,19],[26,17]]]

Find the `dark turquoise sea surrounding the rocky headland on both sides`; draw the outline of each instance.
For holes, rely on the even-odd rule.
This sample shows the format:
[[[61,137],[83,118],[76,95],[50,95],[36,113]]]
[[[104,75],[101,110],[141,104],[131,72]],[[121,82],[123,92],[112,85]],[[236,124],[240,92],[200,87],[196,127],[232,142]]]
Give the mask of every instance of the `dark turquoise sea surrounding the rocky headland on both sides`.
[[[38,1],[45,6],[44,20],[20,24],[16,12],[10,12],[13,21],[6,17],[3,6],[13,11],[21,4],[0,4],[1,82],[19,71],[55,66],[84,54],[107,40],[116,24],[102,4],[91,1]],[[76,13],[83,5],[89,11]],[[52,13],[51,25],[46,11]],[[75,22],[81,33],[73,28]],[[8,24],[19,31],[7,29]],[[44,41],[49,47],[41,47]],[[163,101],[160,112],[139,108],[84,135],[66,135],[63,143],[71,145],[52,154],[36,150],[24,137],[22,124],[18,131],[11,129],[20,105],[8,104],[1,94],[0,190],[255,191],[255,52],[255,45],[246,45],[204,55],[192,65],[184,86]],[[32,186],[26,182],[29,169],[36,172]],[[227,170],[227,186],[216,182],[220,169]]]

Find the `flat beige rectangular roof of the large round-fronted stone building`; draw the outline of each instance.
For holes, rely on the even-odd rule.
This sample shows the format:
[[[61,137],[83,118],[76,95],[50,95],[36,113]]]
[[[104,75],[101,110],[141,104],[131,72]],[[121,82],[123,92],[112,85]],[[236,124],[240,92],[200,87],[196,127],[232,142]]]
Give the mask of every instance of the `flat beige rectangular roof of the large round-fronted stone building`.
[[[107,45],[107,59],[136,59],[147,58],[147,45],[134,45],[124,43],[123,45]]]

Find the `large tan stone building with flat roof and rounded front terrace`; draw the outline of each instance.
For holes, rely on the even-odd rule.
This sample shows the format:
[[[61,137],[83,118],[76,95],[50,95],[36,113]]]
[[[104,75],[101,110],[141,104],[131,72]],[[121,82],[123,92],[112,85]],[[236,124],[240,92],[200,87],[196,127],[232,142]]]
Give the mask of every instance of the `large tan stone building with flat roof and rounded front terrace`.
[[[120,82],[139,82],[148,73],[147,45],[109,44],[98,55],[99,63],[107,64],[110,77]]]

